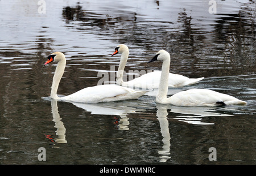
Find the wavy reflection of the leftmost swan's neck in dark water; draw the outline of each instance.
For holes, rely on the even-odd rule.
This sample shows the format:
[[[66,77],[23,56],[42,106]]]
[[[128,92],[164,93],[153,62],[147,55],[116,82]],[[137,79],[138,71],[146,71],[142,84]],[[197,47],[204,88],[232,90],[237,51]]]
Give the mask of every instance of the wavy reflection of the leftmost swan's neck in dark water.
[[[57,101],[52,100],[51,105],[52,105],[52,117],[53,117],[52,121],[55,122],[54,127],[57,128],[56,135],[58,135],[58,138],[55,139],[55,141],[57,143],[67,143],[67,140],[65,139],[66,128],[64,127],[63,122],[61,122]]]

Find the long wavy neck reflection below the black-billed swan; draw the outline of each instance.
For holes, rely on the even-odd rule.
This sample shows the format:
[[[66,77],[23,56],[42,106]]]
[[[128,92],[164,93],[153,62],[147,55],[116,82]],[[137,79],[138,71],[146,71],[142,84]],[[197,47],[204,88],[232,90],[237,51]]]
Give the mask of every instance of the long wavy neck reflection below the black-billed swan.
[[[163,136],[163,149],[161,151],[158,151],[159,154],[162,154],[160,156],[160,162],[166,162],[167,159],[171,158],[169,156],[170,154],[170,132],[169,132],[169,122],[167,120],[167,109],[163,106],[158,106],[158,110],[156,111],[156,116],[158,117],[158,121],[160,124],[161,134]]]

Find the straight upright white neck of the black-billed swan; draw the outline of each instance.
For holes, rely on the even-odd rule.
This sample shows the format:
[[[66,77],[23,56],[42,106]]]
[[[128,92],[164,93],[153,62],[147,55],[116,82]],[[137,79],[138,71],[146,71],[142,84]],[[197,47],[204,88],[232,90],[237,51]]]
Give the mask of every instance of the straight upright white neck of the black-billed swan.
[[[162,73],[158,88],[158,95],[156,95],[156,102],[161,104],[167,103],[167,92],[168,92],[168,79],[169,79],[169,70],[170,70],[170,62],[171,58],[170,55],[166,57],[163,61],[162,65]]]

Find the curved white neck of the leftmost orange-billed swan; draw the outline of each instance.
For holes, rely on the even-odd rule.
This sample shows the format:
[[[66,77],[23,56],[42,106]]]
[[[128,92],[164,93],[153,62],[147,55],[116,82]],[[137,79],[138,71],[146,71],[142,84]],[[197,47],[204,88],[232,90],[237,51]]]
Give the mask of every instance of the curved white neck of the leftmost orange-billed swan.
[[[60,79],[64,74],[65,66],[66,66],[66,59],[64,58],[57,63],[55,74],[53,76],[52,87],[51,87],[52,88],[51,98],[55,100],[59,99],[59,97],[57,96],[57,89],[59,87]]]

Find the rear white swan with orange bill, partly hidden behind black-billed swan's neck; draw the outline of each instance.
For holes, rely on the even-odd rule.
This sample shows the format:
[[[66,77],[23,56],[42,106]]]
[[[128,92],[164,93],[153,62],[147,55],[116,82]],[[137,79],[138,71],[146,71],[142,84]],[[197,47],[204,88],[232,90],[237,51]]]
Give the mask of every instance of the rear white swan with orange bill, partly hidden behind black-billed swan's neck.
[[[154,89],[154,88],[159,87],[161,71],[149,72],[147,74],[140,76],[139,78],[135,78],[135,79],[127,81],[127,82],[123,81],[123,71],[125,69],[127,59],[129,57],[129,48],[124,44],[118,45],[117,48],[115,48],[115,51],[112,54],[112,56],[117,53],[122,53],[121,61],[119,63],[119,67],[118,67],[118,71],[117,71],[117,84],[118,85],[122,85],[124,87],[130,87],[130,88],[137,87],[137,88],[144,88],[144,89]],[[195,84],[202,79],[204,79],[204,77],[202,77],[202,78],[187,78],[183,75],[169,73],[168,86],[169,87],[183,87],[185,85]]]

